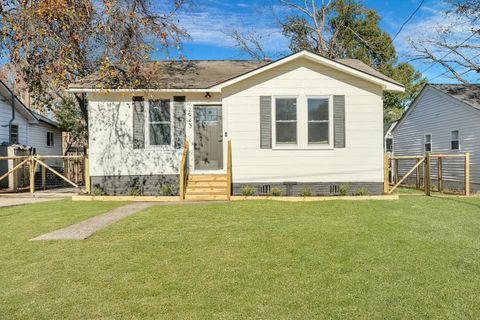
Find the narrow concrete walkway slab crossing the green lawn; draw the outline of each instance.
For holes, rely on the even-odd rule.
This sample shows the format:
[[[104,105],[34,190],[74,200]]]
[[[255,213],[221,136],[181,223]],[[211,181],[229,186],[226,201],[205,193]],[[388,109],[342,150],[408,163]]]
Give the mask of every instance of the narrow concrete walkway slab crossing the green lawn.
[[[49,232],[30,240],[85,240],[98,230],[101,230],[112,223],[155,205],[157,204],[154,202],[134,202],[69,227]]]

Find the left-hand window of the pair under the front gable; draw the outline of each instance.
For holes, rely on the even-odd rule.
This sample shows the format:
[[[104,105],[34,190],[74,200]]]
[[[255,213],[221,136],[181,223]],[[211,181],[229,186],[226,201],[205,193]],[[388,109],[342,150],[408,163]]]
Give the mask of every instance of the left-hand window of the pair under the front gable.
[[[275,142],[277,145],[297,144],[297,99],[275,99]]]

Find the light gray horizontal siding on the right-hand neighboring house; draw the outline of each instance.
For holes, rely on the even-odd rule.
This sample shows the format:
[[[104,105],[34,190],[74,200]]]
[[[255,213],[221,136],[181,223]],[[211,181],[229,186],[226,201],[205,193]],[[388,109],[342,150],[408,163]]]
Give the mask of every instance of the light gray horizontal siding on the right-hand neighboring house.
[[[460,131],[460,151],[450,149],[451,131]],[[436,89],[426,87],[417,99],[416,106],[395,129],[394,153],[423,155],[424,135],[432,135],[433,154],[457,154],[470,152],[472,183],[480,183],[480,111],[469,107]],[[403,164],[403,165],[402,165]],[[401,161],[400,173],[412,165]],[[437,162],[432,162],[432,177],[437,178]],[[445,180],[464,179],[462,159],[446,159],[443,162]]]

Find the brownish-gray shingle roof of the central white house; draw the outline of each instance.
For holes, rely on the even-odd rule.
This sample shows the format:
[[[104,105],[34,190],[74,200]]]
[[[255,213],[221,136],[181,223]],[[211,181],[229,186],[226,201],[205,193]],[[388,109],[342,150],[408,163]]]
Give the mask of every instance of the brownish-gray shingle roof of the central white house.
[[[379,79],[402,85],[381,74],[363,62],[355,59],[333,60]],[[207,89],[219,83],[234,79],[272,62],[248,60],[187,60],[157,61],[142,66],[142,74],[149,74],[151,81],[142,89]],[[93,73],[70,85],[70,89],[108,89],[106,77],[99,72]],[[122,88],[120,86],[120,88]],[[124,88],[127,89],[127,88]]]

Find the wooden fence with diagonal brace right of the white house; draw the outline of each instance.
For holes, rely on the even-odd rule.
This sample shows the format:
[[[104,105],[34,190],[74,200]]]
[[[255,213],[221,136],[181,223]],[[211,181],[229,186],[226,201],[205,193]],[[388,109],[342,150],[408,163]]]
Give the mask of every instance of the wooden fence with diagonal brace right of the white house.
[[[389,156],[384,157],[384,193],[391,194],[396,188],[404,184],[408,178],[415,177],[415,188],[424,189],[426,195],[432,192],[432,161],[437,161],[437,189],[438,192],[444,191],[444,168],[446,159],[463,159],[463,186],[465,195],[470,195],[470,153],[464,154],[431,154],[427,152],[421,156]],[[407,172],[400,176],[400,164],[408,161]],[[413,162],[413,165],[411,163]],[[458,166],[458,164],[457,164]],[[393,168],[393,170],[390,170]],[[390,174],[393,176],[390,177]],[[393,181],[390,184],[390,181]]]

